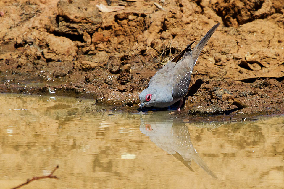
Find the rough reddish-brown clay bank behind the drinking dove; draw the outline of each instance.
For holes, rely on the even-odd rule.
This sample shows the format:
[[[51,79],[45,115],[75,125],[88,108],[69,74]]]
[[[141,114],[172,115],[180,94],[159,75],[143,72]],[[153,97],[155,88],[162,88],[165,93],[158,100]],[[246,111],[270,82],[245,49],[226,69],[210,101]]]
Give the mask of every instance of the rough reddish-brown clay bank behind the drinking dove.
[[[104,13],[100,3],[124,9]],[[0,92],[93,98],[136,110],[151,76],[220,22],[194,67],[180,113],[283,114],[283,5],[284,0],[3,0]]]

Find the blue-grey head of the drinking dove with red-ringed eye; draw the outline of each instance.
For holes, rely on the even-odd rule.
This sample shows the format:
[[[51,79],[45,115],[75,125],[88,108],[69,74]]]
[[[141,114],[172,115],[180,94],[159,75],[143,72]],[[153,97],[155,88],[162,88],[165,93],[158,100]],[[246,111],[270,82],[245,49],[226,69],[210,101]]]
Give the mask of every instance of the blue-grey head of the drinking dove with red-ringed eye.
[[[156,104],[156,94],[157,90],[153,88],[144,89],[140,95],[139,99],[141,101],[140,107],[150,107]]]

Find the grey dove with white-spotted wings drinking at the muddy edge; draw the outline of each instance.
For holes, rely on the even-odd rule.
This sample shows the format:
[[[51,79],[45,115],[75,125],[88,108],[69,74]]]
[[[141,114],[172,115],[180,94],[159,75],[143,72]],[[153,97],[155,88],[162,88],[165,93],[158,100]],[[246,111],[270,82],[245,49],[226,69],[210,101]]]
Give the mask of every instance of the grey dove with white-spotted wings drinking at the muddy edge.
[[[156,72],[150,79],[148,87],[139,95],[141,109],[144,106],[165,108],[180,101],[177,109],[180,111],[183,97],[188,93],[193,67],[202,49],[219,25],[220,23],[214,25],[193,50],[191,45],[195,41],[187,45],[181,53]]]

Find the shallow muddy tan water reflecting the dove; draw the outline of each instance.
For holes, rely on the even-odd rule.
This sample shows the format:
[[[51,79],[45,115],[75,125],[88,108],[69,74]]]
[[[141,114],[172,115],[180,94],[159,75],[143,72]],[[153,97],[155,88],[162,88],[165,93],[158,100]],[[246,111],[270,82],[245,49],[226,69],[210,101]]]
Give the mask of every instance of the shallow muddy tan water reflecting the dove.
[[[0,94],[0,188],[284,188],[284,118],[186,123],[92,100]]]

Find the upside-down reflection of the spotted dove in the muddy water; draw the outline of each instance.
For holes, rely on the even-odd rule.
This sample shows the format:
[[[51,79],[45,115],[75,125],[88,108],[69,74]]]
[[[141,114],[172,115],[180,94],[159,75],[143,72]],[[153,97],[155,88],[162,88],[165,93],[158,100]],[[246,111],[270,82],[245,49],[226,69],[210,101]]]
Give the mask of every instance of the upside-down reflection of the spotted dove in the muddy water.
[[[217,178],[205,162],[199,157],[190,140],[190,134],[185,124],[174,124],[173,120],[141,120],[140,131],[149,136],[159,148],[172,154],[183,162],[191,171],[191,159],[193,159],[209,175]]]

